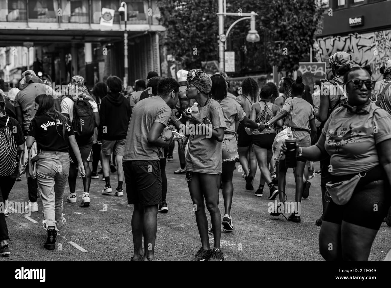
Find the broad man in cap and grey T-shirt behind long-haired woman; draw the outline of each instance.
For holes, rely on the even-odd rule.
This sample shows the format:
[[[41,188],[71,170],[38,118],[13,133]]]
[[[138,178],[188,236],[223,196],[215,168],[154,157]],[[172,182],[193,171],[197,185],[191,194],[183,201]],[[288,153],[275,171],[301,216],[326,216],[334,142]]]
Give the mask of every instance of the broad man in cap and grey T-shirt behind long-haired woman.
[[[26,70],[22,73],[22,80],[19,82],[20,91],[14,99],[14,107],[17,120],[23,128],[24,134],[28,134],[31,120],[35,116],[34,110],[35,97],[40,94],[46,94],[48,97],[53,97],[54,107],[57,111],[61,111],[60,103],[56,92],[52,87],[42,83],[42,80],[34,73],[33,70]],[[29,206],[31,212],[38,212],[38,182],[37,179],[27,178],[27,186],[29,190]]]

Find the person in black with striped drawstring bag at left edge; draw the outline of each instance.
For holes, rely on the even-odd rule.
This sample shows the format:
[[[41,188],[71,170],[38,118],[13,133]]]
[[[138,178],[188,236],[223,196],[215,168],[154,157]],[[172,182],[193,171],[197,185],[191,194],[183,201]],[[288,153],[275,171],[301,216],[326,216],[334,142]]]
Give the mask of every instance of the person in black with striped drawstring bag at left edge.
[[[25,142],[23,130],[16,119],[5,115],[5,104],[5,98],[0,94],[0,130],[9,128],[9,131],[13,134],[16,145],[18,145],[18,154],[20,154],[20,152],[23,151],[23,143]],[[3,170],[5,167],[1,168]],[[17,171],[18,167],[16,167],[12,175],[0,176],[0,205],[4,208],[3,211],[2,207],[0,207],[0,256],[9,256],[10,254],[7,244],[7,240],[9,239],[8,228],[7,223],[5,222],[5,217],[9,214],[5,201],[8,200],[8,195],[15,184]]]

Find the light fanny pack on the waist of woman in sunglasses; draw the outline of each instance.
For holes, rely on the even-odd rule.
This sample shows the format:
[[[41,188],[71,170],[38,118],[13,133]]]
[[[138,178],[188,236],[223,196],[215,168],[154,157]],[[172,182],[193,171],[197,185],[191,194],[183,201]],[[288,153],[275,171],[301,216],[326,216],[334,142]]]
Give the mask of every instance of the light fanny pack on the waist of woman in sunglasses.
[[[331,197],[333,202],[338,205],[344,205],[349,202],[350,198],[352,198],[353,191],[359,183],[362,177],[361,173],[353,176],[350,180],[345,180],[337,183],[327,182],[326,183],[326,192]]]

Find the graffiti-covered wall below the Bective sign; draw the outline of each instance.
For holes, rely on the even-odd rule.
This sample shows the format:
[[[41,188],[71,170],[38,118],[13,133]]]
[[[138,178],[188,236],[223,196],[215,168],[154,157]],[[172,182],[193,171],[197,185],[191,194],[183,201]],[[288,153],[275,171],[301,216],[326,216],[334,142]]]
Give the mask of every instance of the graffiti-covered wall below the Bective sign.
[[[354,65],[370,65],[372,77],[377,81],[383,78],[380,74],[382,61],[391,59],[391,30],[319,38],[314,44],[314,50],[317,61],[326,63],[329,63],[328,58],[335,52],[348,52],[352,54]],[[327,66],[327,79],[331,79],[332,72]]]

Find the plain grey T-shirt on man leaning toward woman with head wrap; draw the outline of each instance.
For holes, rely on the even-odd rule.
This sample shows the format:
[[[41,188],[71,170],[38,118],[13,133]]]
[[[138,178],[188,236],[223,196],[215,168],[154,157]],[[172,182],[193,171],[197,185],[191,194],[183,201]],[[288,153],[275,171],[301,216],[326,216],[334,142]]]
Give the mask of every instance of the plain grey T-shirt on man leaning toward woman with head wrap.
[[[154,122],[167,126],[171,108],[160,96],[152,96],[138,101],[133,107],[127,128],[125,152],[122,161],[159,160],[163,157],[163,148],[148,142],[148,133]]]

